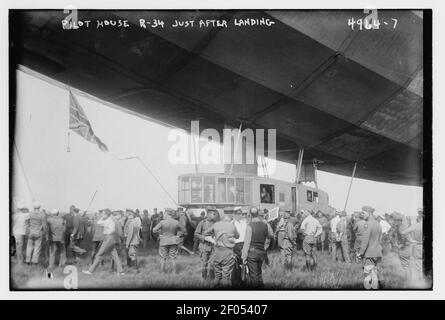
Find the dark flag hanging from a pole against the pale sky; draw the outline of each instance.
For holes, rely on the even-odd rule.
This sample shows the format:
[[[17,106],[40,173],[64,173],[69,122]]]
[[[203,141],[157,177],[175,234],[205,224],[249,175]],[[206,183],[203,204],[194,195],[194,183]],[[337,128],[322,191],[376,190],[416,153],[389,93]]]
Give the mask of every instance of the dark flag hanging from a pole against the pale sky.
[[[100,150],[106,152],[108,147],[103,143],[98,136],[94,134],[90,121],[77,102],[76,97],[70,91],[70,129],[83,137],[85,140],[97,144]]]

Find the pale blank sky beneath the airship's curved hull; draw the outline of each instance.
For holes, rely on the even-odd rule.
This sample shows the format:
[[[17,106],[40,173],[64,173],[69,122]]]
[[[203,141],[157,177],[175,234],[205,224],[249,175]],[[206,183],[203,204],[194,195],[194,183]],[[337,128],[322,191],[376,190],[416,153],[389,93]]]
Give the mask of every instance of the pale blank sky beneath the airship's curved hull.
[[[176,207],[171,198],[177,201],[177,177],[194,173],[195,166],[168,161],[168,151],[174,145],[168,140],[172,128],[83,95],[76,98],[109,152],[74,132],[68,138],[68,90],[17,71],[13,201],[31,205],[37,199],[48,210],[67,210],[71,204],[81,210],[89,206],[90,211],[139,208],[151,212],[153,208]],[[119,160],[131,156],[138,156],[148,166],[170,196],[138,160]],[[199,171],[221,172],[222,167],[201,165]],[[278,162],[270,177],[291,182],[295,165]],[[329,194],[330,205],[340,210],[350,180],[318,171],[319,188]],[[421,187],[354,179],[346,210],[371,205],[376,212],[414,216],[422,206],[422,192]]]

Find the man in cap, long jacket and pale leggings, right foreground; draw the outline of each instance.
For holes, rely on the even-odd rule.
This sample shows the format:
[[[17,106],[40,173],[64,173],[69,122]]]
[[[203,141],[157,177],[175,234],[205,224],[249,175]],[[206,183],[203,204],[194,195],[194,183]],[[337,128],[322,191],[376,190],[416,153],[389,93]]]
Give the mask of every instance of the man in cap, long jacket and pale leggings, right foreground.
[[[365,230],[362,237],[359,257],[364,264],[364,284],[365,288],[378,288],[377,265],[382,259],[382,227],[374,218],[374,208],[364,206],[362,208],[363,217],[366,221]]]

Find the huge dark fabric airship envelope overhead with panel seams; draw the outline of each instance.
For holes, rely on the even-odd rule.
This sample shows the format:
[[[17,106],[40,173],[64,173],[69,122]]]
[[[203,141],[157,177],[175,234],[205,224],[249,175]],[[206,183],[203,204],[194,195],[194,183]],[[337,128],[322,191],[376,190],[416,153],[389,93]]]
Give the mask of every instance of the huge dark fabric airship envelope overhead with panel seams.
[[[13,62],[171,126],[276,128],[282,161],[304,148],[320,170],[351,175],[357,163],[359,178],[423,184],[421,12],[379,10],[371,30],[352,30],[366,14],[348,10],[80,10],[91,22],[74,30],[66,16],[12,13]],[[262,18],[275,23],[235,25]]]

